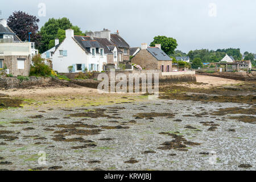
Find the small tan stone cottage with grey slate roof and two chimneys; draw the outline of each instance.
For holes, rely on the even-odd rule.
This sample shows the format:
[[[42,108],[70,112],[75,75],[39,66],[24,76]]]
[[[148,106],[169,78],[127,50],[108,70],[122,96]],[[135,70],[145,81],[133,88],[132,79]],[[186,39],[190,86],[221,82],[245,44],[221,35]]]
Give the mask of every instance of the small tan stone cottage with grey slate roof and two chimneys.
[[[131,63],[140,65],[143,69],[158,69],[162,72],[172,71],[172,59],[161,49],[161,44],[156,47],[147,47],[143,43],[139,50],[131,59]]]

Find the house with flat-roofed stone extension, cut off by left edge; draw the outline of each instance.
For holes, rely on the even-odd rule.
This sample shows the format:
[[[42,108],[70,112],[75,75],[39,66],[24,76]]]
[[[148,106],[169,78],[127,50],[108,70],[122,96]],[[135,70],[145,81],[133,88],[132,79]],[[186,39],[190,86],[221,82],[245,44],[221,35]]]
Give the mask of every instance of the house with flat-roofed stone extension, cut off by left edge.
[[[6,19],[0,19],[0,69],[13,76],[28,76],[32,56],[38,50],[31,42],[22,42],[7,26]]]

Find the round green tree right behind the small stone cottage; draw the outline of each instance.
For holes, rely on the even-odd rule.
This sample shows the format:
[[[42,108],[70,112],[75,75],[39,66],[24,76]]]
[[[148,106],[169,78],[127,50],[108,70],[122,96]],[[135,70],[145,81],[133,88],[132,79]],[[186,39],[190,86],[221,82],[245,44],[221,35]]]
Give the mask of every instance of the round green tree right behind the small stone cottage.
[[[172,53],[174,53],[174,50],[178,46],[176,39],[167,38],[166,36],[155,36],[153,42],[150,43],[150,46],[154,47],[155,44],[161,44],[162,50],[167,55],[171,55]]]

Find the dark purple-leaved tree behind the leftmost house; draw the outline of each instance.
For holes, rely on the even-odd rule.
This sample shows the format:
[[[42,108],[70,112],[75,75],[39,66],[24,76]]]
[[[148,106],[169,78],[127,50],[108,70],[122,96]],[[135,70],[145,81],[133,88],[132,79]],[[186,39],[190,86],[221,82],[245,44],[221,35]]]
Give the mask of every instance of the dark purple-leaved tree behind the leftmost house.
[[[22,41],[28,41],[28,33],[31,32],[31,42],[35,42],[36,47],[39,47],[41,38],[38,33],[39,21],[34,15],[27,14],[23,11],[14,11],[7,19],[7,24]]]

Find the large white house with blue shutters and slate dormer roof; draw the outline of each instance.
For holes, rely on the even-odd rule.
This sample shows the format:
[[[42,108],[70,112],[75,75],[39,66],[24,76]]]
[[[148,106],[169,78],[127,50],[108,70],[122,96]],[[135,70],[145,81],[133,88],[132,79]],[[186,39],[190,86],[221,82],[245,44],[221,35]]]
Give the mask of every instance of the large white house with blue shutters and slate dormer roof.
[[[52,68],[59,73],[68,73],[68,67],[72,66],[72,72],[102,71],[103,63],[107,56],[104,48],[96,40],[89,36],[74,35],[71,29],[66,30],[66,38],[52,55]]]

